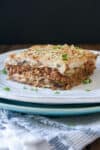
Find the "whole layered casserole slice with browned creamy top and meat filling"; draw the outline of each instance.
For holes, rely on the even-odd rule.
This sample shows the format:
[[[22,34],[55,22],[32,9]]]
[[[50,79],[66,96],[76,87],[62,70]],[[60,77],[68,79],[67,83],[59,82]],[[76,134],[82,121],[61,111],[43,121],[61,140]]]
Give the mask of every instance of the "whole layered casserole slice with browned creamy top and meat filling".
[[[11,80],[36,87],[70,89],[87,79],[96,67],[97,55],[73,45],[32,46],[5,62]]]

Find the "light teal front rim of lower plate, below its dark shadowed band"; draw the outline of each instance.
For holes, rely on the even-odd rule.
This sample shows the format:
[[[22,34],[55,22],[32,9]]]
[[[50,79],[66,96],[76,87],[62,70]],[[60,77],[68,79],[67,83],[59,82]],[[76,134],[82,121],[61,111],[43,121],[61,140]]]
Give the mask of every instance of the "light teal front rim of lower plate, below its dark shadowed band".
[[[16,105],[9,105],[0,103],[0,108],[20,113],[29,113],[35,115],[46,115],[46,116],[70,116],[70,115],[86,115],[93,113],[100,113],[100,106],[87,107],[87,108],[36,108],[36,107],[23,107]]]

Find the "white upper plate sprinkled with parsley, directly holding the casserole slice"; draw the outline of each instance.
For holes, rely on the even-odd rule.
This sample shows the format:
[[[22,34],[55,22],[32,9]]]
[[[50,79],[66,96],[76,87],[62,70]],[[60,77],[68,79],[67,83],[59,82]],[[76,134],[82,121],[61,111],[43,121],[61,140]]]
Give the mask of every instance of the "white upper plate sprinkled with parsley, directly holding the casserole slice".
[[[25,50],[25,49],[24,49]],[[19,53],[23,50],[16,50]],[[96,51],[93,51],[97,53]],[[50,104],[73,104],[73,103],[97,103],[100,102],[100,57],[97,59],[96,70],[91,76],[92,83],[81,84],[71,90],[53,91],[46,88],[38,88],[32,90],[32,86],[20,84],[14,81],[7,80],[7,75],[2,73],[4,61],[8,54],[0,55],[0,97],[11,100],[19,100],[33,103],[50,103]],[[5,91],[4,88],[9,87],[10,91]],[[27,88],[27,89],[24,89]],[[90,91],[87,91],[90,90]]]

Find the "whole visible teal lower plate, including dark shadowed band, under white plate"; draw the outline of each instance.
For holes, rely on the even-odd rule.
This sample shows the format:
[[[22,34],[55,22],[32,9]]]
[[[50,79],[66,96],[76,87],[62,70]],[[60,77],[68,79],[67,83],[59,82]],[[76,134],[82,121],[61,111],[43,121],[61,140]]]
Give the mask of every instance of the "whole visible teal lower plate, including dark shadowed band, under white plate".
[[[99,104],[77,104],[77,105],[42,105],[27,102],[0,99],[0,108],[21,113],[29,113],[45,116],[67,116],[67,115],[86,115],[99,113]]]

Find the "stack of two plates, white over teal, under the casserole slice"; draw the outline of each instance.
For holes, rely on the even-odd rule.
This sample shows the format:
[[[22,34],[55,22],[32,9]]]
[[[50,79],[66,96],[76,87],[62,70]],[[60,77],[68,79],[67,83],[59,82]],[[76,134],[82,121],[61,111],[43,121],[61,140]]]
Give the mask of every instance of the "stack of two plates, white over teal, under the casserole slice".
[[[53,116],[100,112],[99,57],[90,84],[82,84],[67,91],[53,91],[7,80],[4,60],[8,54],[0,55],[0,108]]]

